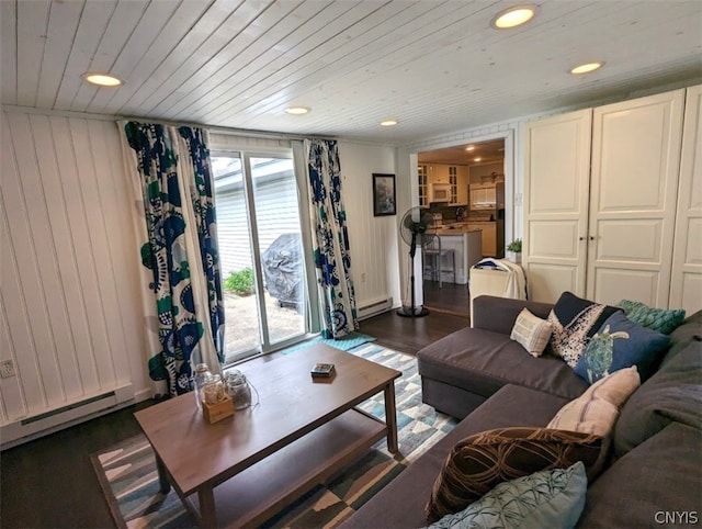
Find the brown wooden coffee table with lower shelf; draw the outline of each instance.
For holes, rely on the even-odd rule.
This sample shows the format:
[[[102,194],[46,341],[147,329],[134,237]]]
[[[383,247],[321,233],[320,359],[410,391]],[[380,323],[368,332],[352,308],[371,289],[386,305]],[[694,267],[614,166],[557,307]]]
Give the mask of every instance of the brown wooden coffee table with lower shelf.
[[[336,375],[313,380],[317,362]],[[190,393],[135,413],[161,492],[172,484],[201,527],[259,525],[383,437],[397,452],[399,371],[324,345],[240,368],[260,394],[254,408],[211,425]],[[354,408],[381,391],[385,423]]]

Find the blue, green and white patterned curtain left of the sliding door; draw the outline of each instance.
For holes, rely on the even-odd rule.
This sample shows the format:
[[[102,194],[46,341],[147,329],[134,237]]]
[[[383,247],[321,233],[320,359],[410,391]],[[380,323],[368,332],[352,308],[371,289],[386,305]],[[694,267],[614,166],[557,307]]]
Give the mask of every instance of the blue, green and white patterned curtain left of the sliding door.
[[[121,123],[138,176],[141,263],[150,308],[148,370],[157,395],[191,391],[193,367],[222,372],[224,301],[206,132]],[[128,150],[128,149],[125,149]],[[145,229],[144,229],[145,228]]]

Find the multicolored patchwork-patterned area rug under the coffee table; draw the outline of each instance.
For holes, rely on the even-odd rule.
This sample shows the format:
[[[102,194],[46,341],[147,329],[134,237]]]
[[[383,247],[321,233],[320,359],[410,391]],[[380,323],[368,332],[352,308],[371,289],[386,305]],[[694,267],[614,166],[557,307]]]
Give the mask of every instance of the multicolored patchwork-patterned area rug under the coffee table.
[[[378,441],[361,460],[307,493],[262,527],[338,526],[456,425],[455,419],[422,404],[415,357],[373,344],[350,352],[403,372],[395,381],[400,453],[392,455],[385,439]],[[385,418],[382,393],[359,407]],[[196,527],[176,492],[166,496],[159,493],[154,452],[144,436],[135,436],[97,453],[92,461],[118,527]]]

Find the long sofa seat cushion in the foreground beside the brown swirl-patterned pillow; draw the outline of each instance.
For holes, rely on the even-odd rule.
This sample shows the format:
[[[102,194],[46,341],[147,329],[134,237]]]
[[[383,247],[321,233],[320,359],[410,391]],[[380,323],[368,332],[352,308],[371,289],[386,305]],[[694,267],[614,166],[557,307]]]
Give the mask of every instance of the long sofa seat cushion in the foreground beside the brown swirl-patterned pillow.
[[[407,529],[426,525],[424,505],[431,486],[456,442],[479,431],[516,424],[542,427],[566,402],[565,398],[547,393],[506,385],[437,441],[429,451],[412,462],[341,526]]]

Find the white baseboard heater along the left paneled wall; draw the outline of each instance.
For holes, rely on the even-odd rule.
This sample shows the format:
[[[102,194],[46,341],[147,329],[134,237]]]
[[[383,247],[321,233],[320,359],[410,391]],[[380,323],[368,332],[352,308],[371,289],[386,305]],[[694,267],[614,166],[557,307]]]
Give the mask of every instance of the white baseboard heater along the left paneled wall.
[[[0,450],[53,434],[134,403],[134,387],[127,384],[72,404],[0,426]]]

